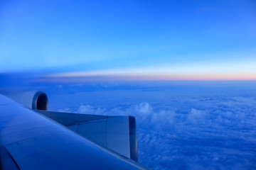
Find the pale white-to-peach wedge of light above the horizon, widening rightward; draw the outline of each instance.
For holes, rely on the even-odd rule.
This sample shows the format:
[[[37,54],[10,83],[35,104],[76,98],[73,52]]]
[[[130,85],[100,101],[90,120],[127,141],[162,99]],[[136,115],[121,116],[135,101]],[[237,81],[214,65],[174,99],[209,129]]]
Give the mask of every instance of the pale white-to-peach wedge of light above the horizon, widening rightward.
[[[256,58],[256,57],[255,57]],[[225,65],[220,64],[193,64],[178,66],[137,67],[133,69],[102,69],[87,72],[60,72],[43,74],[42,78],[92,78],[112,80],[256,80],[255,62],[240,62]],[[73,79],[74,80],[74,79]]]

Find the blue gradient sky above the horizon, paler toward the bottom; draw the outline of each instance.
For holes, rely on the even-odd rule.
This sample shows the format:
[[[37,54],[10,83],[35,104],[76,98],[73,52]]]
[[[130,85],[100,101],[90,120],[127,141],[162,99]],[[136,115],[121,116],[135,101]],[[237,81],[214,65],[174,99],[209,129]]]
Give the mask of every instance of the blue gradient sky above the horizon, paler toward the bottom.
[[[254,0],[1,0],[0,73],[256,79],[255,30]]]

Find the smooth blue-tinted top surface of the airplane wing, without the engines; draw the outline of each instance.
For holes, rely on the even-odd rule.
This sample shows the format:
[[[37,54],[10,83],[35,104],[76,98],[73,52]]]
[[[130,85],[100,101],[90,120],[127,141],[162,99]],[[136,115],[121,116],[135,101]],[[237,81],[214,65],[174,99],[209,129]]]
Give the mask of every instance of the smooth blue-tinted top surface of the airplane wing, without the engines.
[[[148,169],[0,94],[0,169]]]

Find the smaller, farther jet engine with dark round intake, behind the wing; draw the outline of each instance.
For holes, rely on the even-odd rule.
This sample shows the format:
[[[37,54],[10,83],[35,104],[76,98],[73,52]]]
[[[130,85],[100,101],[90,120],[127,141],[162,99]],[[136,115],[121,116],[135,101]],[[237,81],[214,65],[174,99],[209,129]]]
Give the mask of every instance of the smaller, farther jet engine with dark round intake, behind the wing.
[[[48,97],[42,91],[7,92],[4,95],[33,110],[48,109]]]

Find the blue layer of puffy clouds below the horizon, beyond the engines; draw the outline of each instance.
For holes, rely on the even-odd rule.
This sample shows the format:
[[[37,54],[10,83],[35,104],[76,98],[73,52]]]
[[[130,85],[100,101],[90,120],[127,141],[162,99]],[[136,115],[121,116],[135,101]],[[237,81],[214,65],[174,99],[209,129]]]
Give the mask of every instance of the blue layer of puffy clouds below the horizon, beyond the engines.
[[[56,111],[134,115],[139,162],[153,169],[256,169],[256,96],[245,89],[221,89],[219,94],[206,88],[201,94],[167,96],[164,89],[154,93],[140,89],[122,100],[117,94],[131,89],[111,90],[95,93],[98,102],[77,93],[77,98],[84,97],[82,103]],[[101,103],[107,96],[114,99]]]

